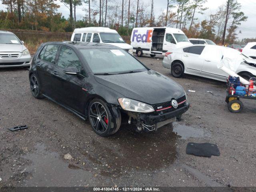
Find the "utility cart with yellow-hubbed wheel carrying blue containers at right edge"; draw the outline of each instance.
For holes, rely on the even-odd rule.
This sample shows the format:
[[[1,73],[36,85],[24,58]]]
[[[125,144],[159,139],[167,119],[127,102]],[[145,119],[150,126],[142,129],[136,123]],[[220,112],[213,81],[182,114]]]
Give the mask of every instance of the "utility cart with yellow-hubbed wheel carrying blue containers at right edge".
[[[256,100],[256,78],[250,78],[249,84],[245,85],[240,83],[239,77],[229,77],[226,91],[228,110],[232,113],[240,113],[244,108],[240,98]]]

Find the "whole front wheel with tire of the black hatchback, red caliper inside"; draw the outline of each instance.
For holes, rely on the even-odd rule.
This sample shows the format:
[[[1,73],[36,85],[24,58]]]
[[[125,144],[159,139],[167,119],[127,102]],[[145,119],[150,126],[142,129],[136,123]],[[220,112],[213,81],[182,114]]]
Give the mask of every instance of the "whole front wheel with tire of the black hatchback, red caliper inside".
[[[121,125],[121,115],[118,110],[116,117],[112,116],[110,108],[101,99],[94,99],[88,108],[88,118],[96,134],[106,137],[118,131]]]

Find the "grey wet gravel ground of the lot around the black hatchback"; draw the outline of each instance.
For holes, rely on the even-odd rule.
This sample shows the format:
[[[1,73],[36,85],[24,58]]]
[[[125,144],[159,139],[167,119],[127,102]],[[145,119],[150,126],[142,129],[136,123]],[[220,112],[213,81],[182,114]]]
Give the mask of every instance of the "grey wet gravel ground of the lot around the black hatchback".
[[[224,83],[173,78],[162,58],[138,59],[183,86],[191,108],[157,132],[123,125],[107,138],[50,100],[33,98],[27,70],[0,69],[0,186],[256,186],[256,102],[242,100],[243,112],[232,114]],[[220,156],[187,155],[188,142],[217,144]]]

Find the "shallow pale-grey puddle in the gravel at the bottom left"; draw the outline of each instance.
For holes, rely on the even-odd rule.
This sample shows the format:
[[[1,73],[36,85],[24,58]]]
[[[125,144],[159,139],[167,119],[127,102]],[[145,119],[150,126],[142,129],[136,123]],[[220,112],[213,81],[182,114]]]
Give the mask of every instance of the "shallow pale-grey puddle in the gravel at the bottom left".
[[[32,161],[25,170],[32,173],[25,186],[86,186],[92,183],[92,173],[68,165],[58,153],[46,151],[42,144],[37,144],[35,148],[34,153],[23,156]]]

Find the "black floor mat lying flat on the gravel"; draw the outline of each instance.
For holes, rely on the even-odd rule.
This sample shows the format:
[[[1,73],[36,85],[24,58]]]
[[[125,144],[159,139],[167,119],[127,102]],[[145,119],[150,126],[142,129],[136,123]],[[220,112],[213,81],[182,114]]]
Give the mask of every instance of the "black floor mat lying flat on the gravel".
[[[211,157],[212,155],[220,156],[218,146],[210,143],[188,143],[186,154],[196,156]]]

